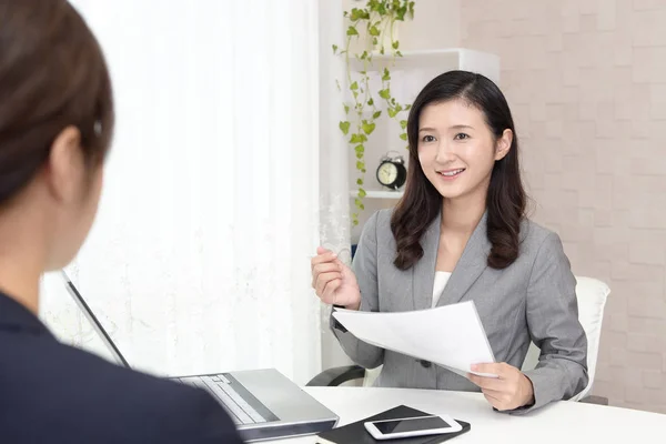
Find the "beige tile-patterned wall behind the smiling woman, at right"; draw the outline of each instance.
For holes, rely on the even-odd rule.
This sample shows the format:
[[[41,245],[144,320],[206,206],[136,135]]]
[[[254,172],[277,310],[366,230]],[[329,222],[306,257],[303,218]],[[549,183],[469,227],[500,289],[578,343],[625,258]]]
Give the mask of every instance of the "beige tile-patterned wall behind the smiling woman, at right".
[[[534,219],[612,287],[594,392],[666,412],[666,1],[461,8],[462,46],[501,58]]]

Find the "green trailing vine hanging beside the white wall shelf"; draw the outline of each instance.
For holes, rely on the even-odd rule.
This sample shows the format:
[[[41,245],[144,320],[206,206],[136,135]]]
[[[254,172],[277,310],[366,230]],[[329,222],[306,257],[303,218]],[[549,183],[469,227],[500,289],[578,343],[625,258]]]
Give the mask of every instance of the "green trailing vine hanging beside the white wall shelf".
[[[365,174],[365,143],[376,128],[376,121],[382,117],[382,110],[377,105],[385,105],[390,119],[396,120],[401,127],[400,138],[407,140],[407,121],[402,119],[402,112],[408,111],[410,104],[401,104],[391,93],[391,70],[385,67],[380,71],[382,87],[379,91],[371,90],[371,77],[373,59],[379,54],[389,58],[390,62],[402,57],[400,41],[394,38],[394,26],[405,18],[414,18],[414,1],[410,0],[367,0],[365,7],[353,8],[344,11],[347,20],[346,39],[344,49],[333,44],[333,53],[344,58],[346,65],[347,88],[352,101],[343,102],[346,119],[339,124],[340,131],[347,138],[347,143],[354,150],[356,158],[356,171],[359,194],[354,199],[356,210],[352,213],[353,225],[359,224],[359,212],[363,211],[363,198],[366,192],[364,185]],[[361,36],[364,31],[364,36]],[[352,52],[352,42],[362,39],[361,50]],[[385,47],[387,46],[387,48]],[[361,63],[361,70],[352,73],[352,63]],[[393,65],[391,63],[391,65]],[[342,91],[340,82],[337,89]]]

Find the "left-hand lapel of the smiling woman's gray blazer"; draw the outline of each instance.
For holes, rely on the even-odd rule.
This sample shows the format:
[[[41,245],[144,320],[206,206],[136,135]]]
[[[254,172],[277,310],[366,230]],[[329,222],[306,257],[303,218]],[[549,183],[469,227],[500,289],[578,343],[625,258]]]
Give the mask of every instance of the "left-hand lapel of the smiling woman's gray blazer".
[[[435,265],[437,263],[437,249],[440,248],[440,223],[442,213],[427,228],[421,239],[423,258],[414,264],[412,273],[412,291],[414,310],[426,310],[433,306],[433,285],[435,283]]]

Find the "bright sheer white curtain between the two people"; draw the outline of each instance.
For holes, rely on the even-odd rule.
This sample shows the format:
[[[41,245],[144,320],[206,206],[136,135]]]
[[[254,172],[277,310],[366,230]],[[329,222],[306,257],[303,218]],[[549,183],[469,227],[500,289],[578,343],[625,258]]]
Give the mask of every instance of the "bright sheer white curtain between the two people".
[[[68,269],[137,369],[321,370],[312,0],[78,0],[105,51],[117,137],[97,223]],[[42,317],[107,351],[64,291]]]

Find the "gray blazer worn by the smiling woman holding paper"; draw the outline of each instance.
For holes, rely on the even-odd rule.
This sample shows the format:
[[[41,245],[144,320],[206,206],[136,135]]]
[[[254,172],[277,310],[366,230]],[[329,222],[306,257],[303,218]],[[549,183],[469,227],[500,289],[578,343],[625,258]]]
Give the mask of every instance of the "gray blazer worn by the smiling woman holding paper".
[[[440,216],[424,233],[423,258],[410,270],[393,265],[392,210],[371,216],[363,228],[352,269],[361,289],[361,310],[402,312],[432,306]],[[504,270],[487,266],[491,243],[486,214],[473,232],[437,306],[474,301],[495,360],[521,369],[529,343],[541,349],[539,363],[526,371],[535,404],[566,400],[587,385],[587,339],[578,322],[576,280],[556,233],[534,222],[521,226],[521,254]],[[332,323],[333,325],[333,323]],[[480,391],[446,369],[370,345],[334,326],[345,353],[365,369],[382,366],[375,385],[383,387]],[[424,337],[424,341],[434,341]],[[517,411],[514,411],[517,412]]]

